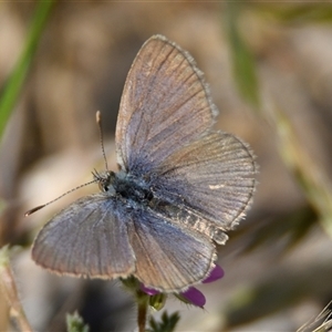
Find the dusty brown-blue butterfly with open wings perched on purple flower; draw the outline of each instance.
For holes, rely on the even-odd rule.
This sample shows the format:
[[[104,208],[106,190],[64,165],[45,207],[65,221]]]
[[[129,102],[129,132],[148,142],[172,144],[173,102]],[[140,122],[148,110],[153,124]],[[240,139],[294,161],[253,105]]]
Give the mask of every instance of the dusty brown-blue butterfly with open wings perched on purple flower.
[[[163,35],[148,39],[121,100],[120,170],[94,173],[101,191],[52,217],[32,259],[60,274],[135,277],[163,292],[206,279],[216,245],[252,201],[257,173],[246,143],[212,129],[217,114],[193,58]]]

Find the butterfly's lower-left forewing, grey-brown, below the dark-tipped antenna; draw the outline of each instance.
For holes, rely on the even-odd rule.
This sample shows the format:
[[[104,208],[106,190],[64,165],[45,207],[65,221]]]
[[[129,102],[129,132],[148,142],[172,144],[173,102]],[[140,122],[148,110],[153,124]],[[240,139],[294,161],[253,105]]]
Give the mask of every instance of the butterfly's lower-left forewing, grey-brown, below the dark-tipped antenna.
[[[62,274],[127,277],[135,270],[127,218],[105,194],[81,198],[42,228],[34,240],[32,258]]]

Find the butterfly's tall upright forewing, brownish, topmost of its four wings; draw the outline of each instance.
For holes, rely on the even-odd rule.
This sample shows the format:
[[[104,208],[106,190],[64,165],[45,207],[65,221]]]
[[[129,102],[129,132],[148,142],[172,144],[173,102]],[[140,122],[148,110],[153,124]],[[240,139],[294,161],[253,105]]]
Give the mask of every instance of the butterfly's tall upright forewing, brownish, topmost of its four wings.
[[[154,169],[207,131],[217,112],[194,60],[160,35],[141,49],[126,79],[116,125],[118,163]]]

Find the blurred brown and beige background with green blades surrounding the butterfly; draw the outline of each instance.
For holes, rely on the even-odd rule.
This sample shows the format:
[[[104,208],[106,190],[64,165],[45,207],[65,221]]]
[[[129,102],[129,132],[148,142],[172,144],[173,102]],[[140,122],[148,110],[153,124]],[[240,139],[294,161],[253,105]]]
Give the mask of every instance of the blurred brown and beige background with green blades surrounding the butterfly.
[[[30,247],[76,190],[110,168],[131,64],[151,35],[195,58],[220,111],[216,127],[248,142],[260,165],[246,220],[219,247],[226,276],[199,287],[205,310],[169,299],[177,331],[297,331],[332,299],[332,6],[255,2],[1,2],[0,247],[10,243],[18,293],[37,331],[65,331],[75,310],[90,331],[134,331],[116,281],[60,278]],[[159,314],[159,313],[158,313]],[[308,331],[312,331],[309,328]],[[15,331],[0,292],[0,331]],[[303,330],[304,331],[304,330]]]

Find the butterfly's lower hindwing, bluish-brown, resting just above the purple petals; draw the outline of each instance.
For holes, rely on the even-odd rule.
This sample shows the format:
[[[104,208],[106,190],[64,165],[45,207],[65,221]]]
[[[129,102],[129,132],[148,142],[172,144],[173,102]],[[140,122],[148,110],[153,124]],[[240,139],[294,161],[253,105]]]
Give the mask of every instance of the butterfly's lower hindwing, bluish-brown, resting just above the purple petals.
[[[146,287],[181,291],[204,280],[214,267],[216,250],[207,236],[153,211],[137,211],[129,235],[137,259],[134,276]]]

